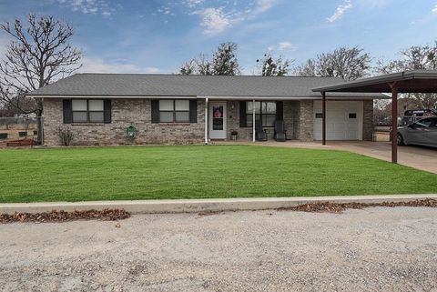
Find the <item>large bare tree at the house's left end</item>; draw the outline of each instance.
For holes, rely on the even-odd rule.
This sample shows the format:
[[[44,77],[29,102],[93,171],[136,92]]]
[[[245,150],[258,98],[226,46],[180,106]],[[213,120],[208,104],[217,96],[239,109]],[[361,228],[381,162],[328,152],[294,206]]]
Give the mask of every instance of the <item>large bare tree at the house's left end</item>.
[[[23,105],[25,94],[69,76],[81,65],[81,51],[70,45],[73,27],[53,16],[28,15],[27,24],[16,19],[6,22],[0,30],[12,36],[4,59],[0,62],[0,99],[15,106],[23,114],[42,116],[43,103],[34,99],[34,106]],[[42,123],[38,123],[38,142],[42,141]]]

